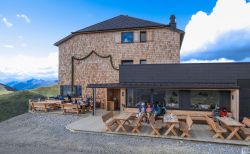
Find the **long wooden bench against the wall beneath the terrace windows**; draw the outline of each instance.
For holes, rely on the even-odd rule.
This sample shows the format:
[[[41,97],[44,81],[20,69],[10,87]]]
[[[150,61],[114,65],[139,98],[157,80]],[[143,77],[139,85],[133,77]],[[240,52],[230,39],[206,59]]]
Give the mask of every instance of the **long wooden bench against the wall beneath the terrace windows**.
[[[206,117],[212,117],[211,111],[191,111],[191,110],[167,110],[167,114],[177,115],[178,119],[185,119],[189,115],[194,121],[206,121]],[[228,113],[229,116],[232,116],[232,113]]]

